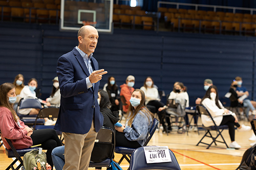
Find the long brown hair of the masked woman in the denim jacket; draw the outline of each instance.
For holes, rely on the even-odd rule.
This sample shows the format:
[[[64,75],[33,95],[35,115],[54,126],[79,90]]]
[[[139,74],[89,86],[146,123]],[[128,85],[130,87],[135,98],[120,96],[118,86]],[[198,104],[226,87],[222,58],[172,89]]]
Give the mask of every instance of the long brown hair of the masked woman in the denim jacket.
[[[139,91],[140,92],[140,94],[141,94],[141,101],[140,101],[139,106],[137,106],[136,109],[130,104],[130,106],[128,108],[128,111],[127,111],[127,113],[130,113],[130,114],[129,114],[129,117],[127,116],[127,118],[126,118],[126,121],[127,121],[127,119],[129,119],[128,120],[128,126],[131,126],[133,124],[133,119],[134,119],[134,117],[137,115],[137,113],[140,110],[146,115],[146,117],[148,118],[148,123],[150,124],[150,116],[153,118],[154,114],[151,113],[147,109],[147,107],[146,107],[146,104],[145,104],[145,93],[144,93],[143,90],[140,90],[140,89],[135,89],[134,91]],[[141,114],[141,113],[139,113],[139,114]],[[142,115],[142,116],[144,116],[144,115]]]

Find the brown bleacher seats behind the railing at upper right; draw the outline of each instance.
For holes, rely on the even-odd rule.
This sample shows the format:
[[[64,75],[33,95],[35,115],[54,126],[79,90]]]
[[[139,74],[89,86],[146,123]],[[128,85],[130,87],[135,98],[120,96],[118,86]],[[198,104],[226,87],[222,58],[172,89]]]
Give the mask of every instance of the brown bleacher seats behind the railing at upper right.
[[[172,31],[201,30],[214,34],[244,34],[256,36],[256,14],[223,11],[186,10],[159,7],[165,27]]]

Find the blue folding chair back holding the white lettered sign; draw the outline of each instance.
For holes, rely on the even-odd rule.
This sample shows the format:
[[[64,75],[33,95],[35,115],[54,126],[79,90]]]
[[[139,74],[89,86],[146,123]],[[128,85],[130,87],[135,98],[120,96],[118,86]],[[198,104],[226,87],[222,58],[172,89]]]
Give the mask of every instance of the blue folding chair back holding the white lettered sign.
[[[145,170],[145,169],[173,169],[180,170],[180,165],[174,155],[174,153],[169,150],[170,158],[172,162],[162,162],[162,163],[146,163],[146,158],[144,154],[144,148],[140,147],[134,150],[131,156],[130,170]]]

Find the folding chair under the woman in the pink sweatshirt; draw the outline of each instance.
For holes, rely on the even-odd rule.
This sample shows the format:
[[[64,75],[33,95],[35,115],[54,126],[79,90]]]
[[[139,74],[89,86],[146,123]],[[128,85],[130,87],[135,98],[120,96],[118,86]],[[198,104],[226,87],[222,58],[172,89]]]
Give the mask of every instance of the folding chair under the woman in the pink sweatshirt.
[[[1,130],[0,130],[0,135],[2,136]],[[10,139],[5,138],[5,140],[8,142],[9,146],[11,147],[10,150],[5,149],[5,153],[8,156],[8,158],[16,158],[7,168],[8,169],[12,169],[12,170],[18,170],[20,167],[23,166],[23,160],[22,160],[22,156],[24,156],[24,154],[26,154],[29,151],[32,151],[34,149],[39,149],[38,147],[34,147],[34,148],[27,148],[27,149],[20,149],[20,150],[16,150],[11,142]],[[16,162],[19,161],[19,165],[15,168],[13,165],[16,164]]]

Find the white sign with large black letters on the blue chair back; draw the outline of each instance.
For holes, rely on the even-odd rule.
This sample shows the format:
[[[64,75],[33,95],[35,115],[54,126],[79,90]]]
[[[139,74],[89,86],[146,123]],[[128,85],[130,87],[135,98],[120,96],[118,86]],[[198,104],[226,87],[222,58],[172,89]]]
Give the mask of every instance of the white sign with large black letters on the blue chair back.
[[[172,162],[168,147],[144,147],[146,163]]]

